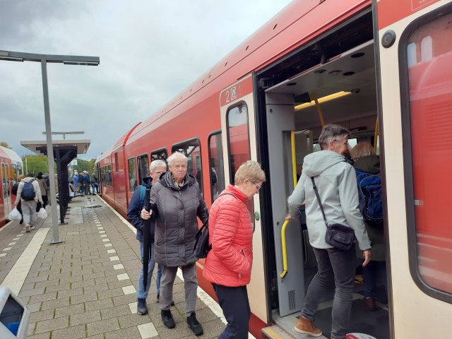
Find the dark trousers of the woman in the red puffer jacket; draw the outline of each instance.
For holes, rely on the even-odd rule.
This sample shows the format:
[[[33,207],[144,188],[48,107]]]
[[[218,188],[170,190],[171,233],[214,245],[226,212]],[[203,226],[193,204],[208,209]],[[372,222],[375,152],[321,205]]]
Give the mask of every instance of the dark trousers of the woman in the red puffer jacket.
[[[218,339],[247,339],[251,309],[249,308],[246,286],[212,285],[227,321],[225,331],[221,333]]]

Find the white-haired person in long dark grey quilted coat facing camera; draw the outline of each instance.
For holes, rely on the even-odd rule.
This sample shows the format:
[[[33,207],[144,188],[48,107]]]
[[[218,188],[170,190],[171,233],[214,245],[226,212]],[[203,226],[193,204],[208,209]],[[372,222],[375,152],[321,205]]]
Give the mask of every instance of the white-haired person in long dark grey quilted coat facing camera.
[[[195,335],[203,334],[203,327],[196,319],[196,256],[195,234],[198,231],[196,217],[202,222],[208,219],[206,203],[198,182],[187,174],[188,158],[179,152],[167,159],[169,172],[162,174],[150,191],[150,213],[141,211],[141,218],[155,218],[155,261],[165,266],[160,285],[160,309],[163,324],[174,328],[169,310],[172,287],[177,268],[182,268],[185,289],[186,322]]]

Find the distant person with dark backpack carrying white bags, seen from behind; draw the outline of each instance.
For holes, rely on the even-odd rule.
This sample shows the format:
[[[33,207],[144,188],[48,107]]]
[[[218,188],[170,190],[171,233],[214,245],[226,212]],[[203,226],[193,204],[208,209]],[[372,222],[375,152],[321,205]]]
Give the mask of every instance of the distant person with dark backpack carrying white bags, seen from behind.
[[[27,186],[25,186],[25,184],[27,184]],[[30,188],[30,185],[28,184],[32,184],[32,188]],[[34,197],[32,198],[33,195]],[[36,205],[38,201],[43,203],[40,185],[35,178],[33,178],[33,174],[28,173],[27,177],[19,183],[16,202],[14,203],[14,206],[16,207],[19,202],[21,203],[23,222],[25,222],[25,232],[30,232],[30,230],[35,227]]]

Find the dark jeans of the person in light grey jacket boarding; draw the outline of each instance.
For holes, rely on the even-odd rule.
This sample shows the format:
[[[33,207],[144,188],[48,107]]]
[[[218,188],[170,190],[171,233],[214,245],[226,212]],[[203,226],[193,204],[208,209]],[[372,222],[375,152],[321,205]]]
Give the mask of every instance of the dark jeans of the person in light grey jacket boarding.
[[[347,323],[352,309],[353,283],[355,279],[355,246],[348,251],[340,249],[314,249],[317,273],[309,284],[302,309],[302,316],[314,319],[321,297],[335,282],[333,299],[333,324],[331,336],[345,338]]]

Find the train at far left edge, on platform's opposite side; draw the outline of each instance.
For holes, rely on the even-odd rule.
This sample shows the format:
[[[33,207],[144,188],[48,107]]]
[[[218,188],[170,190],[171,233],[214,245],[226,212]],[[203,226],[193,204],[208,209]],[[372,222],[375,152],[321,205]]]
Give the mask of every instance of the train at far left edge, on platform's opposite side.
[[[0,146],[0,227],[6,224],[8,214],[14,208],[16,196],[11,193],[18,176],[23,174],[22,159],[13,150]]]

